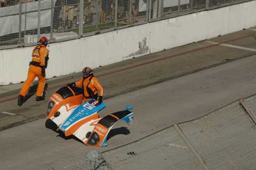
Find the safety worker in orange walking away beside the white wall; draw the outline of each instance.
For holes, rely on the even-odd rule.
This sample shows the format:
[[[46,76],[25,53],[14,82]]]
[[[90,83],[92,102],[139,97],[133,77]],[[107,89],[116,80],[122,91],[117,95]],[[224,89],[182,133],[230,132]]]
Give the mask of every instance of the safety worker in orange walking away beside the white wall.
[[[47,39],[46,37],[42,37],[39,40],[39,45],[33,49],[32,60],[29,63],[28,77],[27,80],[24,82],[18,96],[19,106],[23,104],[23,99],[36,77],[39,80],[39,84],[36,90],[36,101],[44,100],[43,90],[46,82],[45,69],[49,60],[49,51],[46,48],[48,41],[49,39]]]

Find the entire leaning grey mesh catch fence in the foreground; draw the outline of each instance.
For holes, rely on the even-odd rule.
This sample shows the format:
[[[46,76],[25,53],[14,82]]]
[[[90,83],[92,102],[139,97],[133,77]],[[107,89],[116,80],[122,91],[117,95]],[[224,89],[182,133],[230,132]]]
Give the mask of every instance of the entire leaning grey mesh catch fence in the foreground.
[[[60,169],[255,169],[255,118],[256,95]]]

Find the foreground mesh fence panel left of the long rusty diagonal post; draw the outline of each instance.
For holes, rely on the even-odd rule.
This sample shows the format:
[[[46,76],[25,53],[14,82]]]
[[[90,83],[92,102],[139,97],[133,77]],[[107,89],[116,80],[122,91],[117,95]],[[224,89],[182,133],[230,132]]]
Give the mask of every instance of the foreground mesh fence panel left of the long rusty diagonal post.
[[[113,169],[204,169],[173,127],[102,156]]]

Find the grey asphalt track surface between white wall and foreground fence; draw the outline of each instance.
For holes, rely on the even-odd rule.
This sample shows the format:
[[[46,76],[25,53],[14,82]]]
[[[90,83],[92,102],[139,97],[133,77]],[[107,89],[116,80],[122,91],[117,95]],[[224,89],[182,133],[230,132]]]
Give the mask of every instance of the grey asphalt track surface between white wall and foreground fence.
[[[94,69],[107,105],[99,115],[126,105],[134,113],[130,126],[124,121],[114,126],[104,148],[59,135],[45,118],[47,99],[82,73],[47,80],[44,101],[35,101],[35,82],[21,107],[17,96],[23,83],[1,86],[0,169],[57,169],[92,149],[126,145],[256,94],[255,37],[252,28]]]

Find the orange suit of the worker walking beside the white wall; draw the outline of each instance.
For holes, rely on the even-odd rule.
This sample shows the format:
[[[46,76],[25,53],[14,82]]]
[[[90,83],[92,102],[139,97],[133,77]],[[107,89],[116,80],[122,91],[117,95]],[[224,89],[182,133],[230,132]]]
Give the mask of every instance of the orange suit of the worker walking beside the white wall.
[[[31,84],[37,77],[39,80],[39,84],[36,90],[36,96],[43,96],[43,90],[46,80],[45,73],[42,73],[42,67],[45,67],[45,64],[47,64],[45,63],[47,62],[45,58],[48,56],[48,53],[48,49],[43,44],[39,44],[33,49],[32,61],[28,69],[28,77],[21,88],[20,95],[25,97]]]

